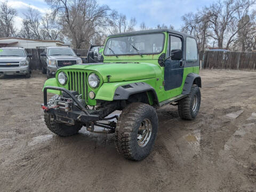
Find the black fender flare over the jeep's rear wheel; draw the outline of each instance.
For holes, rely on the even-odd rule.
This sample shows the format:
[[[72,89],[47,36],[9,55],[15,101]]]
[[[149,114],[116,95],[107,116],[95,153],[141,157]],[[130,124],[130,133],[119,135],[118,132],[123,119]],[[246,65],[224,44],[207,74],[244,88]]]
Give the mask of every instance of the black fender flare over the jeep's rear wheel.
[[[202,87],[201,77],[195,73],[189,73],[183,86],[182,94],[189,94],[193,84],[197,84]]]

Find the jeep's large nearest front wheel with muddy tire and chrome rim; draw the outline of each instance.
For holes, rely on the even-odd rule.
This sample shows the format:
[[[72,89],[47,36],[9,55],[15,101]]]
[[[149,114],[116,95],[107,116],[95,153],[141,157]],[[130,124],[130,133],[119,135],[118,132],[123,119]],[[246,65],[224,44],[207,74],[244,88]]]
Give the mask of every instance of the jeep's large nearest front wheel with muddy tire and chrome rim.
[[[120,115],[115,131],[116,149],[125,158],[141,161],[153,148],[158,129],[154,107],[131,103]]]

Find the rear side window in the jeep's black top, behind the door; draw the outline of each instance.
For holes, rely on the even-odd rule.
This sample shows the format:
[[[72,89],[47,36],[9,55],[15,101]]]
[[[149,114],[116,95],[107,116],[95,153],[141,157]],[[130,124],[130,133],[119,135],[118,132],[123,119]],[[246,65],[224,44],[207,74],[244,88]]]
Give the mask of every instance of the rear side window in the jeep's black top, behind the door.
[[[196,40],[191,37],[187,37],[186,41],[186,59],[187,62],[197,61],[197,44]]]

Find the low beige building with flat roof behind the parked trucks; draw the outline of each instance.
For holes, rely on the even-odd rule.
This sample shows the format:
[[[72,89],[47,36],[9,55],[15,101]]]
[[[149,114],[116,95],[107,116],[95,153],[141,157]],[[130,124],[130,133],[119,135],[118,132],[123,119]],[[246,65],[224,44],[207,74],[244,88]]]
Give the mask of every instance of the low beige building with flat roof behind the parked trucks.
[[[0,47],[24,47],[25,49],[44,48],[49,46],[69,46],[73,48],[70,43],[63,43],[55,40],[37,40],[17,37],[0,38]]]

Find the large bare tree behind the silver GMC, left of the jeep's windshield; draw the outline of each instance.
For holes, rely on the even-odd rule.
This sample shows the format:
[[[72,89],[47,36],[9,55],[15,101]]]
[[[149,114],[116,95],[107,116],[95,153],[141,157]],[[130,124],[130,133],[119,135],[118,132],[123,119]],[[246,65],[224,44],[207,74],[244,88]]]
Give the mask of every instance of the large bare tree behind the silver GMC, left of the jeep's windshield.
[[[80,49],[90,44],[90,38],[108,25],[112,12],[95,0],[46,0],[59,18],[63,34]]]

